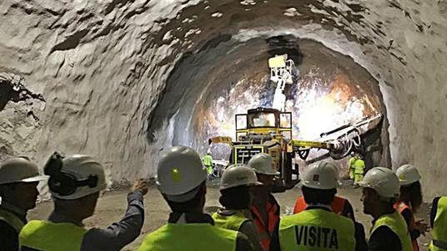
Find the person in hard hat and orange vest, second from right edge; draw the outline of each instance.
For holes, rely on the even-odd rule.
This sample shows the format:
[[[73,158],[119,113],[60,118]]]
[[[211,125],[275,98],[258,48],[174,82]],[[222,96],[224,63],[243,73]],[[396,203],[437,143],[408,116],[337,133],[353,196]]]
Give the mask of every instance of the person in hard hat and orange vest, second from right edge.
[[[410,231],[413,251],[419,251],[418,238],[428,231],[428,224],[424,220],[414,220],[414,213],[422,204],[421,174],[413,165],[403,165],[396,170],[400,182],[399,201],[394,208],[402,214]]]

